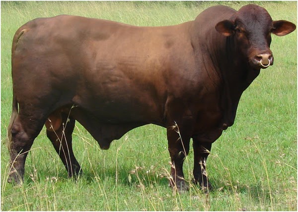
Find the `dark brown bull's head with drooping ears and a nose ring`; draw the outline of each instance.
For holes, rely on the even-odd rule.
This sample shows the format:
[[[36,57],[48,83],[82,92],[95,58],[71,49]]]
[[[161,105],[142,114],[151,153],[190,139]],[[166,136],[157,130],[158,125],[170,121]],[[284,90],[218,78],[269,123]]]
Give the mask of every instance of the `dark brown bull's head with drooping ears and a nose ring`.
[[[224,36],[234,36],[237,49],[247,57],[250,66],[260,69],[273,64],[271,33],[288,35],[296,25],[285,20],[273,21],[266,9],[249,4],[241,7],[229,20],[219,22],[215,28]]]

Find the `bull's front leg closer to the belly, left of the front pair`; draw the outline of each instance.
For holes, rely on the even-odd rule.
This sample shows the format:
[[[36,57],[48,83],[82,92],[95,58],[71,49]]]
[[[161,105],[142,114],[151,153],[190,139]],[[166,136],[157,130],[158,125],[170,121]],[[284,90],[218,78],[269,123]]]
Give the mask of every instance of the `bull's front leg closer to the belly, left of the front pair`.
[[[183,174],[183,162],[189,152],[190,137],[177,124],[167,127],[168,150],[171,157],[170,186],[180,192],[189,190]]]

